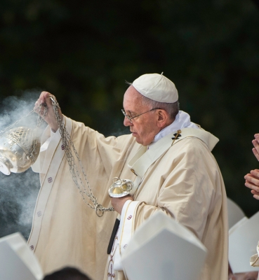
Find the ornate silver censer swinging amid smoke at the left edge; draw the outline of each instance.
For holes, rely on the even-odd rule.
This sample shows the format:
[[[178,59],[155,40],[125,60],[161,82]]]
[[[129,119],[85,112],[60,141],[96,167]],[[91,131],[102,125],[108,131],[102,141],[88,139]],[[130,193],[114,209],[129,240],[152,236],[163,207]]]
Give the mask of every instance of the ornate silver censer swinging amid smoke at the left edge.
[[[25,172],[39,155],[41,142],[36,130],[15,127],[0,135],[0,172],[10,175]]]

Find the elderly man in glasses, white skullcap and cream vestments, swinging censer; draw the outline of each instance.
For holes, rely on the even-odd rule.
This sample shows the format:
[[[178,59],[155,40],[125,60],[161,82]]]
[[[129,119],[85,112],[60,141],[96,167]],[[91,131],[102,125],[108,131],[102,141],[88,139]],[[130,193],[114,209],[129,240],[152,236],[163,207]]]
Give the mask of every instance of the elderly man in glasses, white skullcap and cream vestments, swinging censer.
[[[28,244],[45,272],[69,265],[96,280],[125,279],[120,258],[131,234],[162,211],[208,248],[200,279],[227,279],[227,202],[211,154],[218,139],[178,110],[178,91],[171,80],[145,74],[128,87],[122,110],[128,135],[105,138],[59,112],[98,203],[114,207],[101,218],[73,186],[50,94],[42,92],[39,103],[48,106],[49,127],[34,166],[41,174],[41,190]],[[114,177],[133,181],[134,192],[110,199]],[[112,230],[115,218],[120,219],[119,230]]]

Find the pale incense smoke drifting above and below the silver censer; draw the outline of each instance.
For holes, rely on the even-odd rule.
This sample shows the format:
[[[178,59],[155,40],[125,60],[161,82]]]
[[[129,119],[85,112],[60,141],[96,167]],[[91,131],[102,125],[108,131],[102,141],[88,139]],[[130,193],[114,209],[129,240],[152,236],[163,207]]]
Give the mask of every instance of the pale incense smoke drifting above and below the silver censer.
[[[36,113],[27,114],[34,109],[38,98],[39,91],[34,90],[23,92],[22,97],[4,99],[0,104],[0,133],[17,120],[19,123],[14,127],[36,127]],[[24,116],[27,118],[22,119]],[[29,237],[39,188],[39,174],[30,168],[9,176],[0,172],[0,237],[18,231],[26,239]]]

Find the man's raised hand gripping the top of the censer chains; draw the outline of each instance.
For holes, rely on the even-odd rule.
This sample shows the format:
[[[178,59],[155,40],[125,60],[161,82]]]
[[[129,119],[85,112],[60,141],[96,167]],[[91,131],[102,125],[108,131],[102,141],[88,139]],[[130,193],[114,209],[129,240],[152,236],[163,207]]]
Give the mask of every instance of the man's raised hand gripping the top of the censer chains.
[[[58,123],[57,120],[55,118],[55,113],[53,110],[53,105],[52,105],[52,101],[51,101],[51,96],[53,96],[52,94],[50,94],[49,92],[41,92],[41,95],[39,96],[39,99],[35,102],[35,106],[34,106],[34,110],[40,105],[40,104],[46,104],[47,109],[48,109],[48,113],[47,116],[44,117],[44,120],[46,121],[46,123],[48,123],[48,125],[51,127],[51,129],[53,130],[53,132],[56,132],[58,130]],[[44,108],[41,107],[41,115],[43,115],[44,112]],[[60,118],[61,120],[63,119],[62,113],[60,111],[60,109],[58,109],[58,113],[60,114]]]

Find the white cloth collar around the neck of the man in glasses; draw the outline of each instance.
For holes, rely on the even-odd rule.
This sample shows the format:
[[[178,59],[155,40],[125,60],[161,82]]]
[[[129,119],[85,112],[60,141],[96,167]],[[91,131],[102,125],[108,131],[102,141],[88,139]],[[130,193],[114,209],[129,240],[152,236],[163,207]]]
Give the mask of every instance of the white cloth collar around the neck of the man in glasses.
[[[179,113],[176,115],[175,120],[171,125],[168,125],[164,128],[164,130],[161,130],[155,137],[152,143],[147,147],[147,149],[150,149],[151,146],[159,141],[161,138],[164,138],[166,135],[170,134],[171,132],[175,132],[177,130],[180,130],[185,127],[190,128],[199,128],[198,125],[195,125],[195,123],[191,122],[190,115],[185,113],[185,111],[179,111]]]

